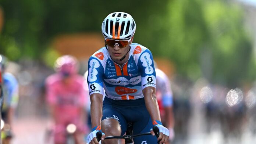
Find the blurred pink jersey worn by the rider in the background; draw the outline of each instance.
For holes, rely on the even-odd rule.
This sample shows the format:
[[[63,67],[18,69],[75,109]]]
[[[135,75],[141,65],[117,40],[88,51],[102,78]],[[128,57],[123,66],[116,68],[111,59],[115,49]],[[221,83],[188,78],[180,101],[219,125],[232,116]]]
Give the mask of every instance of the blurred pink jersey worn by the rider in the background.
[[[70,84],[64,84],[62,80],[58,73],[46,79],[47,103],[55,107],[54,111],[58,118],[77,118],[89,97],[88,88],[84,86],[87,85],[86,80],[80,75],[73,76]]]

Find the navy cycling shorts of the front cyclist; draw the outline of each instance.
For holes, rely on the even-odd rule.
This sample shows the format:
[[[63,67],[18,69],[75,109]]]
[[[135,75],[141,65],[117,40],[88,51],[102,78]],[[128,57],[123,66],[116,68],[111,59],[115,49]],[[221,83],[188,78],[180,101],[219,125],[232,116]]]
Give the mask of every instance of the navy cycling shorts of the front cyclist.
[[[103,101],[103,119],[116,119],[121,126],[122,134],[127,130],[127,122],[133,123],[133,134],[150,132],[153,127],[144,98],[137,100],[112,100],[105,97]],[[135,144],[156,144],[156,136],[140,136],[134,138]]]

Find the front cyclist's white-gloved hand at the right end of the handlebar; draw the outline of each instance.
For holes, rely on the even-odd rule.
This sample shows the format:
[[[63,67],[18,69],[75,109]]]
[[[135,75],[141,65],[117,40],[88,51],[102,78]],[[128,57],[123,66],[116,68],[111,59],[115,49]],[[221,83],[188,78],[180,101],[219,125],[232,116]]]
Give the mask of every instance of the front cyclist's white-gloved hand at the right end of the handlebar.
[[[160,140],[160,144],[167,143],[170,136],[169,130],[164,127],[162,123],[158,120],[155,120],[153,124],[159,129],[159,137],[157,138],[157,140]],[[150,133],[154,136],[155,134],[153,132],[153,128],[151,128],[150,131]]]

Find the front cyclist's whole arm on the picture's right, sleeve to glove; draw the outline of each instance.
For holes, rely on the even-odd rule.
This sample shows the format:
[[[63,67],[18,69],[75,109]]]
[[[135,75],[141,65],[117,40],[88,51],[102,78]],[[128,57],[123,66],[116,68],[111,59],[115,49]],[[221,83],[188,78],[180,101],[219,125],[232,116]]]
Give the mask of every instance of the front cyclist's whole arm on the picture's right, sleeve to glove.
[[[149,50],[145,50],[140,55],[138,69],[141,72],[142,93],[147,111],[149,111],[153,125],[159,128],[158,140],[160,143],[165,143],[169,137],[169,131],[161,124],[159,106],[156,100],[156,70],[152,53]],[[151,133],[154,134],[153,131]]]

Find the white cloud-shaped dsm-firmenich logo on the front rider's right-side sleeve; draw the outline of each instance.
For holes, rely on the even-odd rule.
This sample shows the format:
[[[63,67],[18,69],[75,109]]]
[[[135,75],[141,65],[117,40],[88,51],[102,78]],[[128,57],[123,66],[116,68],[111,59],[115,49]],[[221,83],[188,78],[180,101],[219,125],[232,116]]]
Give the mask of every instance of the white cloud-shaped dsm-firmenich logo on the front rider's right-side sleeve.
[[[143,53],[141,55],[141,61],[142,61],[142,65],[145,68],[145,73],[146,74],[152,74],[154,72],[152,65],[152,60],[150,59],[150,54],[149,53]]]

